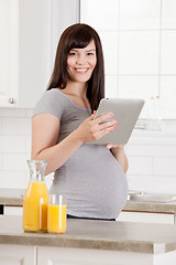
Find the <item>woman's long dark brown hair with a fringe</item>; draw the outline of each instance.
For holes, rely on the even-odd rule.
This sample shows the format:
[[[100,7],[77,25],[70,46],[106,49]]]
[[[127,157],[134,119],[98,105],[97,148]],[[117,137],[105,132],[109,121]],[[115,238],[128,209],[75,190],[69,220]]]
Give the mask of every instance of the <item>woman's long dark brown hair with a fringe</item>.
[[[47,87],[47,91],[56,87],[64,89],[66,87],[69,78],[67,72],[68,53],[75,47],[86,47],[92,40],[96,45],[97,64],[88,81],[87,88],[91,112],[98,108],[100,99],[105,97],[105,66],[100,38],[90,25],[76,23],[63,32],[57,45],[54,70]]]

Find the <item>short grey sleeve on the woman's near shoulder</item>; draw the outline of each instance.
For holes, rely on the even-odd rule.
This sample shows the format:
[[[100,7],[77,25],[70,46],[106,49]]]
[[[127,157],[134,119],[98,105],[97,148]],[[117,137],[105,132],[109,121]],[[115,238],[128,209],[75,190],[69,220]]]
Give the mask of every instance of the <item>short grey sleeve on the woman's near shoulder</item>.
[[[44,93],[33,110],[33,117],[44,113],[53,114],[61,119],[63,115],[63,97],[57,93],[56,88]]]

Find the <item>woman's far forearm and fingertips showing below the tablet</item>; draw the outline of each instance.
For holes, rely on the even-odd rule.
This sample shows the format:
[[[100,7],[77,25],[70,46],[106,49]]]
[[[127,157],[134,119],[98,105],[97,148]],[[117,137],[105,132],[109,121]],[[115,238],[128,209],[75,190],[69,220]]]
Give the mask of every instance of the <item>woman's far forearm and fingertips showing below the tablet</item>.
[[[128,158],[124,152],[124,146],[123,145],[117,145],[117,146],[107,145],[107,148],[111,150],[112,155],[116,157],[116,159],[121,165],[124,173],[127,173],[128,168],[129,168],[129,162],[128,162]]]

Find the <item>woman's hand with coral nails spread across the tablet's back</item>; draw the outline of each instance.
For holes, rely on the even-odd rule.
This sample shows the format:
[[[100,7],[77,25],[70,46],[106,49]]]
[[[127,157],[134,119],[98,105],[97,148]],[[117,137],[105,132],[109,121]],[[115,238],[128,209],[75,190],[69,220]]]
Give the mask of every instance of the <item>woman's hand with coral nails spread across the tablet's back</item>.
[[[85,119],[75,131],[82,144],[87,141],[96,141],[117,128],[117,120],[103,123],[103,120],[113,117],[112,113],[101,115],[96,119],[95,115],[96,112]]]

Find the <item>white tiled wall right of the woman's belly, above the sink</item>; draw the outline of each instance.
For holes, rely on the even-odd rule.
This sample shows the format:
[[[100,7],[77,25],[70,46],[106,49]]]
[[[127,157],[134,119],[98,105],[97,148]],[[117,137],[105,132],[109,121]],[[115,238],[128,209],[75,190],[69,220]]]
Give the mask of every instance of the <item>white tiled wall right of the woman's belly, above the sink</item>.
[[[176,120],[163,131],[134,131],[127,145],[131,190],[176,194]]]

